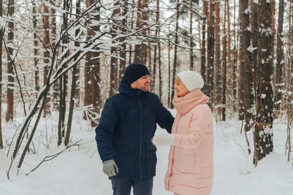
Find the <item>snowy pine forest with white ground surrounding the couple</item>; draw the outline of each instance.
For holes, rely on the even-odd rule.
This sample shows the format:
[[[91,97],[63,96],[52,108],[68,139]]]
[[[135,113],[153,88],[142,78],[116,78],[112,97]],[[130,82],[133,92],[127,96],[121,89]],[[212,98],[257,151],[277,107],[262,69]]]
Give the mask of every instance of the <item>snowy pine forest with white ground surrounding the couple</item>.
[[[0,26],[0,194],[111,195],[94,129],[131,63],[173,116],[176,74],[203,76],[212,195],[292,193],[293,0],[0,0]]]

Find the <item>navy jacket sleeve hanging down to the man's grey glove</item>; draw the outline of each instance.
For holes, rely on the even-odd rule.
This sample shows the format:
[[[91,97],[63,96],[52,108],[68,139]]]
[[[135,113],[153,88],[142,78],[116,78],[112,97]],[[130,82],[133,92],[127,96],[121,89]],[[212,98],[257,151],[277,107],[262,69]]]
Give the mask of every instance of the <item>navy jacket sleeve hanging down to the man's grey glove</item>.
[[[112,99],[107,99],[102,111],[100,123],[96,128],[98,152],[103,162],[113,159],[111,137],[118,121],[117,107]]]

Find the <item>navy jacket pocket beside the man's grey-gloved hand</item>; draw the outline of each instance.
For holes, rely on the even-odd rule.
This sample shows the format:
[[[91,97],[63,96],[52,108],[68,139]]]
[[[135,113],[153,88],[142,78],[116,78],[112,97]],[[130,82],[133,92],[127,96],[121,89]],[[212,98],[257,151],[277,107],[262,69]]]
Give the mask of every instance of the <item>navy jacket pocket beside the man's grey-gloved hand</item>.
[[[135,172],[135,151],[134,143],[117,146],[114,153],[114,161],[117,164],[119,174]]]

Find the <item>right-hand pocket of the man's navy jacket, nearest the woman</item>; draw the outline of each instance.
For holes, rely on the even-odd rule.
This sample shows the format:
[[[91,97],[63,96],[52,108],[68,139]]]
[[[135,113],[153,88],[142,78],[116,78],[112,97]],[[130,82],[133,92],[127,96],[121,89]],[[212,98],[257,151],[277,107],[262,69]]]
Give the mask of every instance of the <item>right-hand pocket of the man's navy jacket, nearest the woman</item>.
[[[156,146],[146,142],[146,171],[148,172],[148,174],[153,174],[156,171],[156,151]]]

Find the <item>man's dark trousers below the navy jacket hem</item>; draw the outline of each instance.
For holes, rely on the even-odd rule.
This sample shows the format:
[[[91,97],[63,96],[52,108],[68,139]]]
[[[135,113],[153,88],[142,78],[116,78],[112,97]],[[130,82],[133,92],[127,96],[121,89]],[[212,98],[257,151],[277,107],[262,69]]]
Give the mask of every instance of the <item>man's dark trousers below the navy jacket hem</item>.
[[[133,195],[152,195],[153,178],[145,179],[119,179],[111,178],[113,195],[130,195],[133,187]]]

